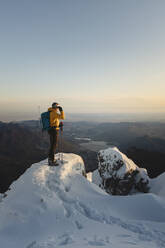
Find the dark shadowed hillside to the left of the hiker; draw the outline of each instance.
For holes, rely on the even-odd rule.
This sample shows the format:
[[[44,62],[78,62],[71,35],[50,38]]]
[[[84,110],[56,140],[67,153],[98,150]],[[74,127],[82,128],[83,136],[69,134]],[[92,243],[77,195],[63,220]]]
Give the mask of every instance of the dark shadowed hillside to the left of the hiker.
[[[32,163],[46,157],[39,133],[13,123],[0,123],[0,192],[6,191]]]

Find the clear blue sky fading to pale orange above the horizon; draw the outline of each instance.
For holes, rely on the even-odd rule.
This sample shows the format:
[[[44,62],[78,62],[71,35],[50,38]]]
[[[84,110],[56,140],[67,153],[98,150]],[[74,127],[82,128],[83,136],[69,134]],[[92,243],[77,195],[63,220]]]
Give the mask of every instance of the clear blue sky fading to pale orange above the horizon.
[[[0,1],[0,119],[53,101],[165,112],[164,13],[164,0]]]

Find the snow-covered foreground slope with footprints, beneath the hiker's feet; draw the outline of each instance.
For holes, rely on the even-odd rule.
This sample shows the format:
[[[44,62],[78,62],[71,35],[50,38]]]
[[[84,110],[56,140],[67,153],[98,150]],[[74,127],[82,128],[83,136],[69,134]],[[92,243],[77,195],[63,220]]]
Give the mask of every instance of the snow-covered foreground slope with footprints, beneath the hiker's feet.
[[[165,199],[110,196],[80,175],[83,161],[32,165],[0,202],[0,247],[165,247]]]

